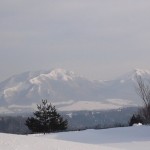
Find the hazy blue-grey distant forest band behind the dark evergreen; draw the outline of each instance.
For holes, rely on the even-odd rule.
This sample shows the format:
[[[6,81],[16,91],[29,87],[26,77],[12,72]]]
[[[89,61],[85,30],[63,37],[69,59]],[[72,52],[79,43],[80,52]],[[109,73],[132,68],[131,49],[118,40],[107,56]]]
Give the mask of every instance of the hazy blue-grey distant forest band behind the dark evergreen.
[[[68,130],[102,129],[128,126],[129,119],[137,111],[135,107],[110,111],[74,111],[60,112],[68,120]],[[30,114],[31,116],[32,114]],[[25,122],[29,115],[0,116],[0,132],[28,134]]]

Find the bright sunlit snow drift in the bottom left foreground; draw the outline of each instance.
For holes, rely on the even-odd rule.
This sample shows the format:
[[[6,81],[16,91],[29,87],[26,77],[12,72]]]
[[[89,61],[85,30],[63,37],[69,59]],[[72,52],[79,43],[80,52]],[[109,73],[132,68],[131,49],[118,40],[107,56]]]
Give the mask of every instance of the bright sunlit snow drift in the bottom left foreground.
[[[114,148],[26,135],[0,134],[0,150],[117,150]]]

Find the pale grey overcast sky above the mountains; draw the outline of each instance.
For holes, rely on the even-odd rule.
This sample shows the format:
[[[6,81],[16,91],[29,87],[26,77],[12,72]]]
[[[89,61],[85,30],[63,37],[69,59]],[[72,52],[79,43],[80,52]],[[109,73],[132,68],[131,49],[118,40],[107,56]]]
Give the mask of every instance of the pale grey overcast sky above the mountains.
[[[150,69],[150,1],[0,0],[0,81],[51,68],[90,79]]]

